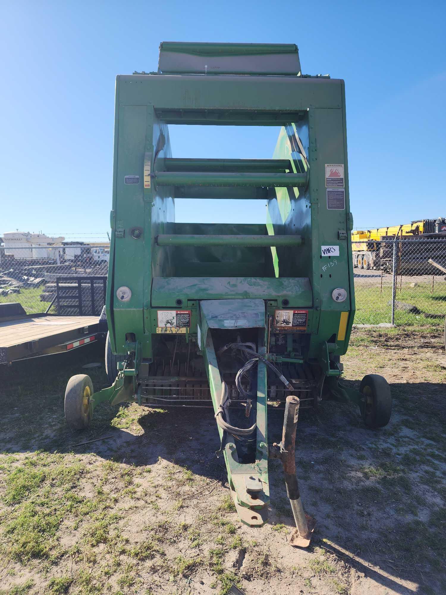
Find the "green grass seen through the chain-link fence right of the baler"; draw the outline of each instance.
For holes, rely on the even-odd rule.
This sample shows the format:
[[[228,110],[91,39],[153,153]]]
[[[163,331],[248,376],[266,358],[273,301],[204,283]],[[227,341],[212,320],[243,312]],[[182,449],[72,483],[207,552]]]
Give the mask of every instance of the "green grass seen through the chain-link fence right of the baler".
[[[417,277],[413,277],[415,283]],[[388,305],[392,298],[392,286],[379,286],[380,280],[376,279],[376,286],[366,283],[355,284],[356,324],[380,324],[391,322],[391,306]],[[416,306],[426,314],[445,315],[446,312],[446,282],[434,280],[434,294],[432,295],[432,283],[419,283],[417,287],[410,287],[404,284],[401,288],[397,284],[396,299],[398,302],[409,303]],[[426,325],[441,327],[444,325],[443,318],[428,318],[423,314],[411,314],[410,312],[395,309],[396,325]]]

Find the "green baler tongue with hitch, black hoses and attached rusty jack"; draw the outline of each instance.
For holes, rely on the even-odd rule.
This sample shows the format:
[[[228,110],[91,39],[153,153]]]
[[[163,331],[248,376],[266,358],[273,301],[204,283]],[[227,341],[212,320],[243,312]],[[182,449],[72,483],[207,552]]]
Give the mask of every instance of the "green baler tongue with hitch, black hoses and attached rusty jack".
[[[296,441],[297,416],[300,403],[298,397],[287,397],[282,442],[279,445],[274,444],[275,448],[271,449],[271,455],[269,453],[270,449],[268,449],[266,436],[266,367],[272,368],[279,375],[279,378],[285,384],[288,384],[290,389],[293,389],[293,387],[277,368],[267,360],[265,302],[261,299],[203,300],[200,302],[200,314],[199,342],[206,362],[212,403],[221,439],[219,453],[223,453],[225,457],[228,481],[240,521],[252,527],[265,523],[268,518],[269,502],[268,456],[279,458],[284,466],[287,494],[297,527],[293,536],[291,536],[290,543],[294,546],[307,547],[315,527],[315,520],[303,512],[296,477],[294,443]],[[235,343],[223,345],[215,353],[212,339],[213,332],[218,334],[218,340],[221,342],[224,331],[232,331],[227,333],[229,339],[234,336],[234,330],[240,331],[241,334],[247,329],[254,331],[257,335],[257,351],[255,344],[252,342],[243,342],[238,339]],[[228,409],[231,400],[227,384],[223,379],[232,370],[227,368],[228,364],[222,357],[224,354],[228,355],[229,350],[233,350],[233,352],[246,358],[246,362],[237,372],[236,386],[241,396],[246,397],[246,417],[251,416],[251,411],[256,416],[255,423],[248,428],[234,427],[229,419]],[[251,384],[252,392],[248,394],[241,387],[240,378],[253,369],[255,363],[257,364],[256,381]],[[239,378],[238,383],[237,378]],[[256,387],[256,394],[254,394],[253,387]],[[240,441],[242,439],[249,440],[249,438],[251,453],[248,452],[247,456],[243,456]],[[253,447],[254,442],[255,449]]]

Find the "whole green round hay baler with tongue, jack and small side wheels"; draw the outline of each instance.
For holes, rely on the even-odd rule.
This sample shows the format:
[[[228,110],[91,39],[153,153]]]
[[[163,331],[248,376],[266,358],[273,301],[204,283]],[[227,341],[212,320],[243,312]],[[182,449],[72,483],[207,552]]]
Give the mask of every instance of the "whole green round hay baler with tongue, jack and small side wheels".
[[[281,126],[272,159],[178,159],[169,124]],[[390,419],[384,378],[340,383],[354,315],[343,80],[300,73],[295,45],[162,43],[159,70],[118,76],[106,311],[111,385],[70,379],[65,414],[100,402],[213,406],[240,520],[268,515],[268,459],[284,466],[296,520],[299,407],[359,405]],[[175,200],[252,199],[266,224],[175,223]],[[121,354],[121,355],[120,355]],[[117,377],[116,377],[117,374]],[[269,443],[268,402],[285,403]]]

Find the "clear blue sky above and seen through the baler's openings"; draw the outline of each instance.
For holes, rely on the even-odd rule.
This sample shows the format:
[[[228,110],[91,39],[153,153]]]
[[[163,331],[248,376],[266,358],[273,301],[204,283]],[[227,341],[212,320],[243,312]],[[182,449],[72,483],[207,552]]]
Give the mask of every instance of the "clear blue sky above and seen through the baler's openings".
[[[156,70],[163,40],[297,43],[304,73],[346,81],[355,227],[446,216],[445,22],[444,0],[0,0],[0,233],[105,236],[115,76]],[[210,146],[211,129],[175,127],[174,156],[270,158],[277,138],[218,133]],[[265,221],[258,201],[176,211]]]

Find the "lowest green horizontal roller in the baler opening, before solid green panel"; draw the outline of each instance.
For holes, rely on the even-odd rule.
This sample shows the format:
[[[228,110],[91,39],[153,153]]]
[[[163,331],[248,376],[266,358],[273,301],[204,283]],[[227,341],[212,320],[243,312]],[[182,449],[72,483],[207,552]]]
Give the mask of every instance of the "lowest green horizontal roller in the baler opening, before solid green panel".
[[[156,236],[158,246],[301,246],[301,236],[229,236],[229,235],[187,235],[160,234]]]

